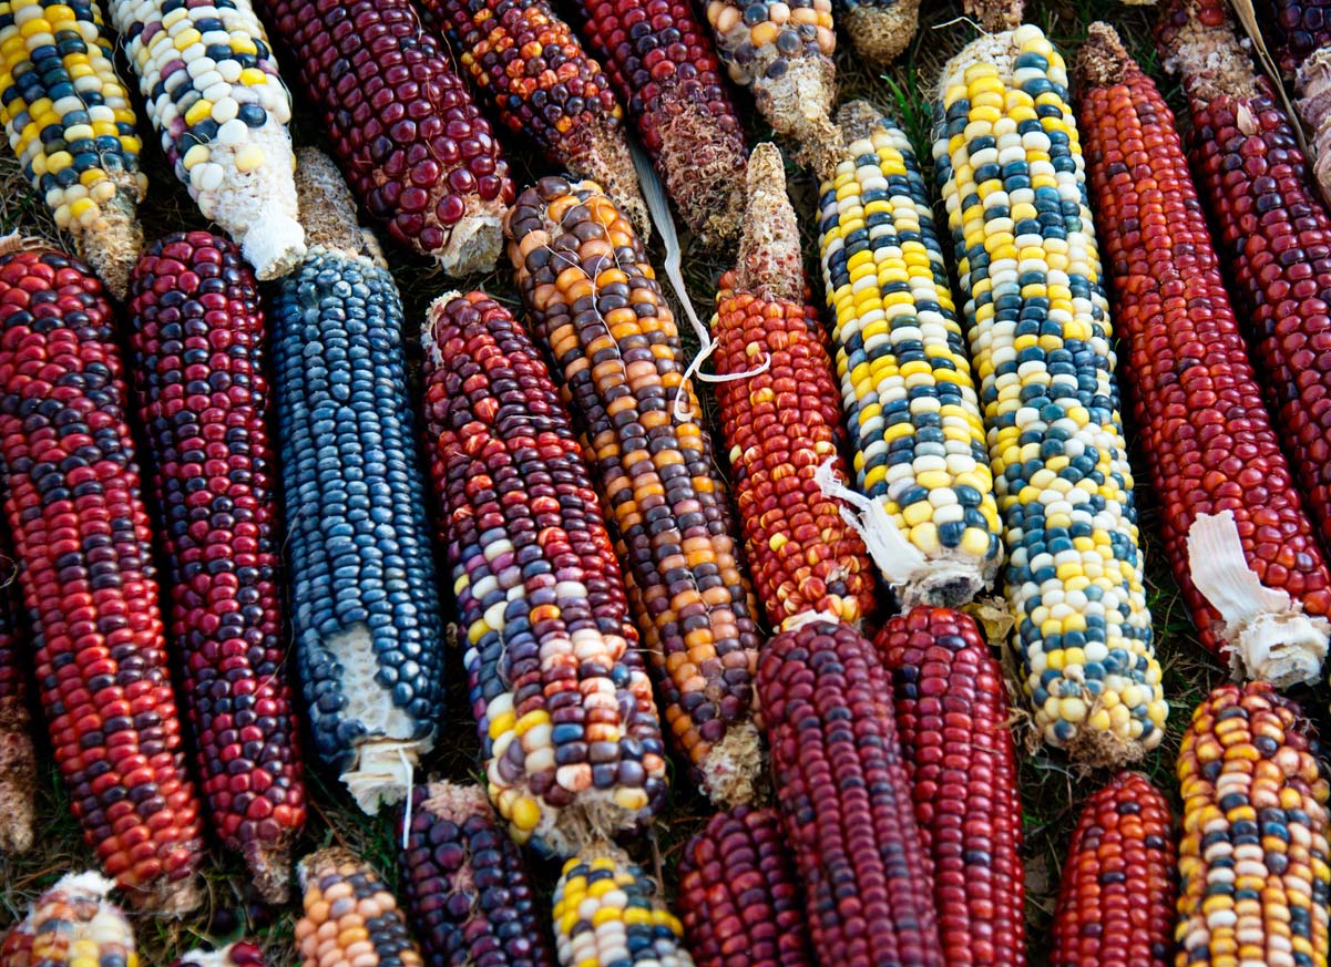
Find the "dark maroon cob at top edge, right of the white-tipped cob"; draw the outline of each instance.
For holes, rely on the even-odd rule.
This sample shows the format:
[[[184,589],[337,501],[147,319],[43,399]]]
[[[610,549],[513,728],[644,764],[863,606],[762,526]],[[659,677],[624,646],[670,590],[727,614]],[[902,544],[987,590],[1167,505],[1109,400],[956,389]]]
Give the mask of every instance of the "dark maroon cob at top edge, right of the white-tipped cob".
[[[446,271],[492,267],[512,201],[508,164],[410,0],[260,5],[370,214]]]

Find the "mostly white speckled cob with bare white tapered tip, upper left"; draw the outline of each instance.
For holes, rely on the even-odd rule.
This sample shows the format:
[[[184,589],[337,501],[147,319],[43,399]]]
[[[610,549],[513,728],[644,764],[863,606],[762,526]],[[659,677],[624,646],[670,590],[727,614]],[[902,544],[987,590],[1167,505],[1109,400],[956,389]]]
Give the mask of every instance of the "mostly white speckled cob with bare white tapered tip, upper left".
[[[285,275],[305,257],[291,94],[250,0],[109,3],[176,177],[261,279]]]

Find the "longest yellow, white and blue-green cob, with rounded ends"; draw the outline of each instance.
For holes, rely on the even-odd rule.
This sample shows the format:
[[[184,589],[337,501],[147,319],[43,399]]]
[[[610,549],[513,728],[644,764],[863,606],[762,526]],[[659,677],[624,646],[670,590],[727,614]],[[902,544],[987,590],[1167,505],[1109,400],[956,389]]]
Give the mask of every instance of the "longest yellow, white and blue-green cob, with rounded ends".
[[[1169,706],[1067,72],[1026,25],[973,41],[940,89],[936,176],[1025,690],[1045,741],[1086,762],[1134,761],[1159,745]]]

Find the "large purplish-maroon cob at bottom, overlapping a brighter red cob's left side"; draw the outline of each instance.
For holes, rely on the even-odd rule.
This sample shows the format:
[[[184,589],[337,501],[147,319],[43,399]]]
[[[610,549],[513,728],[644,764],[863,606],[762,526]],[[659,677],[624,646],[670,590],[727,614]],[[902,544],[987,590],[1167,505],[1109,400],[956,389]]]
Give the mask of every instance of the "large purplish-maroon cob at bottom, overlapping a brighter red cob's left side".
[[[817,962],[942,967],[892,682],[873,645],[831,621],[780,632],[757,689]]]

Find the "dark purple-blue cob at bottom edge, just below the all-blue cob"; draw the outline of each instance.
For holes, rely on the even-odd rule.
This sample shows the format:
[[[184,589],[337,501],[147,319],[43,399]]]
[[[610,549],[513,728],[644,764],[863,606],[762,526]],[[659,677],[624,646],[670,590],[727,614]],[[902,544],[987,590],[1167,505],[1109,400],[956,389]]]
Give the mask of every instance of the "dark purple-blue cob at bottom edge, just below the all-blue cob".
[[[399,866],[426,964],[555,966],[522,851],[480,786],[417,786]]]

